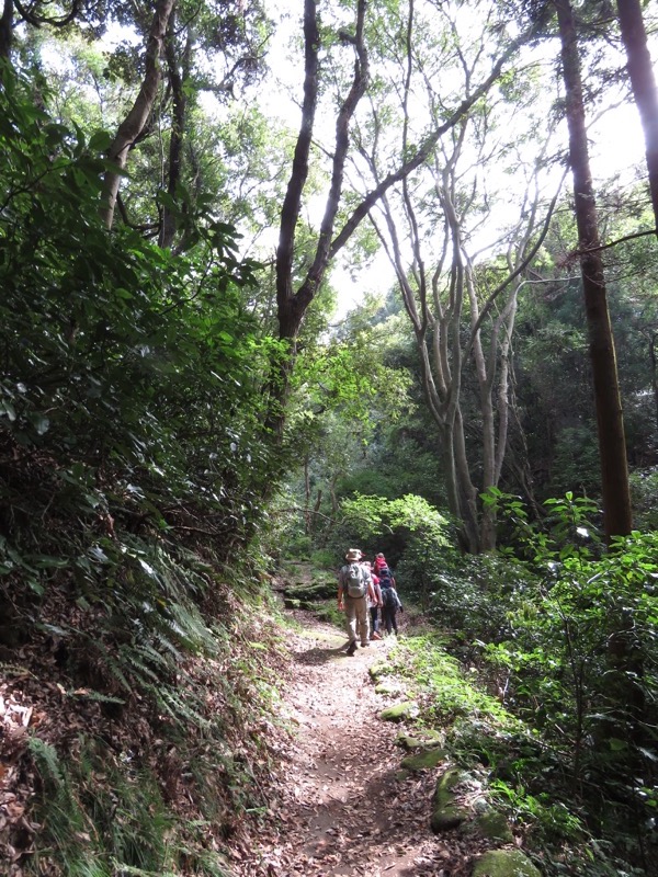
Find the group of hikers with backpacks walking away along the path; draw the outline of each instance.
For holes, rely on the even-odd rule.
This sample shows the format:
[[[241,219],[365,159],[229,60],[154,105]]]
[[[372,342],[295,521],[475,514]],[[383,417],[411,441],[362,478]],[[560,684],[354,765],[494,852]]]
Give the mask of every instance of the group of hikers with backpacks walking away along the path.
[[[348,654],[352,656],[359,640],[361,648],[365,648],[370,646],[371,639],[382,639],[384,631],[395,631],[397,635],[396,616],[402,604],[393,573],[382,553],[371,565],[359,548],[350,548],[345,561],[338,574],[338,608],[345,613],[345,627],[350,638]]]

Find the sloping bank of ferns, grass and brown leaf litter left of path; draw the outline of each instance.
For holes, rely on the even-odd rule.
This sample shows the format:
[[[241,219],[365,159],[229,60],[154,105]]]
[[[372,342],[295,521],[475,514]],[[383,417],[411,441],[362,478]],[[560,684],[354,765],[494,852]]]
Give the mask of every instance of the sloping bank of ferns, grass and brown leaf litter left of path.
[[[38,702],[53,667],[35,659],[32,686],[22,685],[46,721],[22,756],[38,825],[25,874],[225,875],[227,843],[266,810],[265,740],[284,660],[263,620],[275,614],[269,592],[246,563],[230,581],[189,551],[152,549],[145,565],[159,588],[148,607],[144,592],[124,594],[129,636],[100,611],[93,628],[89,613],[76,626],[42,625],[61,663],[59,701]],[[190,596],[195,581],[214,620]]]

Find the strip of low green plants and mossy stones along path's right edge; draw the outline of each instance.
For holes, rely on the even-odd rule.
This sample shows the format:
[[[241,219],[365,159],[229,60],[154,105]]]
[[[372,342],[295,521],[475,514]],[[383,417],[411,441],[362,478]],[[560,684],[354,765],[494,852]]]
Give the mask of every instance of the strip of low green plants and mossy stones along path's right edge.
[[[546,875],[643,874],[592,835],[577,796],[556,781],[561,754],[485,691],[475,671],[449,653],[440,634],[405,636],[385,675],[405,682],[418,705],[413,732],[440,732],[451,759],[477,774],[514,832],[544,862]]]

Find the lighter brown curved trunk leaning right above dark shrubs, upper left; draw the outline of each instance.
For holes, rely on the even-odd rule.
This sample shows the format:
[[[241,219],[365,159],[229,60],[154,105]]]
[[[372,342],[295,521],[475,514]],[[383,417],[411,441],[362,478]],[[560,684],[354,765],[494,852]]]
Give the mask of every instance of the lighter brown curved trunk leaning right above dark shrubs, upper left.
[[[107,228],[112,228],[114,221],[121,171],[126,167],[128,151],[144,130],[156,102],[160,83],[160,54],[174,3],[175,0],[159,0],[156,5],[146,44],[144,81],[133,109],[118,126],[116,137],[107,152],[107,158],[118,167],[118,170],[106,171],[103,181],[104,203],[101,215]]]

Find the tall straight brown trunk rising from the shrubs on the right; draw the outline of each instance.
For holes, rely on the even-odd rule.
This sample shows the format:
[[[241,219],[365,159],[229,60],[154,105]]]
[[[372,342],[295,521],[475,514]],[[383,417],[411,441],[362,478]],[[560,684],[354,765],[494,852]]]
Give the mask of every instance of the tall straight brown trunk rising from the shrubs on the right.
[[[633,525],[626,442],[614,340],[608,309],[603,263],[599,249],[597,206],[587,146],[580,57],[574,11],[569,0],[554,0],[554,2],[561,42],[569,128],[569,161],[574,175],[580,271],[594,385],[605,536],[610,542],[612,536],[629,534]]]

